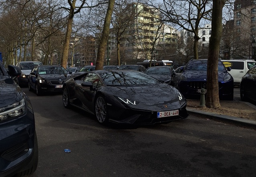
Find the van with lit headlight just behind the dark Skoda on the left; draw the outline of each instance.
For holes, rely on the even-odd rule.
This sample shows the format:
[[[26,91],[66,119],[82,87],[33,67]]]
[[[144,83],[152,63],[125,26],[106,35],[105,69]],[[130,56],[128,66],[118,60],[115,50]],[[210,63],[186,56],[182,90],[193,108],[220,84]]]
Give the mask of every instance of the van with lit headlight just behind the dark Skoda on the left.
[[[30,74],[35,65],[43,65],[43,63],[39,61],[22,61],[16,63],[16,66],[21,70],[21,74],[16,77],[15,81],[20,87],[28,86],[28,74]]]

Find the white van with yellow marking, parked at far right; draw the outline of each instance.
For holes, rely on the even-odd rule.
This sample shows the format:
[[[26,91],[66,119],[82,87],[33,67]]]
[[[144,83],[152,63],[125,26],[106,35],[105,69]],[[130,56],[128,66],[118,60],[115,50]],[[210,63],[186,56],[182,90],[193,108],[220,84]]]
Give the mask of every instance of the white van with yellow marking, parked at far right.
[[[225,67],[231,67],[231,70],[228,71],[232,77],[234,78],[234,84],[240,84],[242,77],[246,74],[246,72],[255,65],[254,60],[221,60]]]

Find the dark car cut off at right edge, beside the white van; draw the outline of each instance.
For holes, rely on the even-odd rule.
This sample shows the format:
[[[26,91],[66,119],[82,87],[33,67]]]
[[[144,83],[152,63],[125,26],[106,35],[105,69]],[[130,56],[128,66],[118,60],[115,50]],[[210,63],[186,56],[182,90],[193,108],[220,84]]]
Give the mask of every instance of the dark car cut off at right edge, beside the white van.
[[[240,97],[242,101],[256,101],[256,65],[251,67],[240,82]]]

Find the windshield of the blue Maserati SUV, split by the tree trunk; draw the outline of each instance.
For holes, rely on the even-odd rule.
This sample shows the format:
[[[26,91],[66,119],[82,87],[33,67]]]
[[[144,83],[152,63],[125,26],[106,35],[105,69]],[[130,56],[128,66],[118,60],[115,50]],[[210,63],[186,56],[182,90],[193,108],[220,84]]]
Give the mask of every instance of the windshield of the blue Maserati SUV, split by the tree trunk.
[[[207,70],[207,60],[190,60],[185,70]],[[226,70],[221,61],[218,63],[218,70]]]

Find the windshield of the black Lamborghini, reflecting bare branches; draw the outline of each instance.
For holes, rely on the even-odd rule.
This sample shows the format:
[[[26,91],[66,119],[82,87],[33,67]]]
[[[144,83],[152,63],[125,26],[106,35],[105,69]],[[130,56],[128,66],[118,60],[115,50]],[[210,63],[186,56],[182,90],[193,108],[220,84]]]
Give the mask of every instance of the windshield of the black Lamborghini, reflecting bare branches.
[[[108,86],[143,86],[161,83],[142,72],[103,72],[100,76]]]

